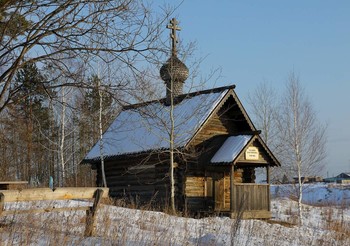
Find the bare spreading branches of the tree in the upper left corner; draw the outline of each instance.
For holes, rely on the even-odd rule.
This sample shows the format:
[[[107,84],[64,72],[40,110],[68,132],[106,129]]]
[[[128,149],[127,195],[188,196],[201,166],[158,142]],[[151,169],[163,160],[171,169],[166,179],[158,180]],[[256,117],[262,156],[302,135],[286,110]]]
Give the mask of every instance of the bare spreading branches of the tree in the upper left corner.
[[[0,112],[16,93],[10,90],[16,71],[28,62],[55,67],[65,77],[77,74],[68,61],[95,58],[140,73],[136,63],[157,60],[162,47],[158,37],[166,16],[154,17],[143,1],[13,0],[0,7]]]

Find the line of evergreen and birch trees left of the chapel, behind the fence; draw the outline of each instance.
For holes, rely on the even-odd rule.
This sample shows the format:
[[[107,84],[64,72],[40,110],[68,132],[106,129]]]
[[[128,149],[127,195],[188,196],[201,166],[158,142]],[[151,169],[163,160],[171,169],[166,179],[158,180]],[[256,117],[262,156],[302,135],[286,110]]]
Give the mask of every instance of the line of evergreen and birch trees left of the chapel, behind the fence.
[[[79,163],[98,140],[98,77],[84,90],[44,89],[46,77],[31,63],[16,74],[11,89],[18,92],[0,119],[1,179],[40,186],[51,176],[56,185],[93,185],[94,174]],[[119,107],[104,98],[106,128]]]

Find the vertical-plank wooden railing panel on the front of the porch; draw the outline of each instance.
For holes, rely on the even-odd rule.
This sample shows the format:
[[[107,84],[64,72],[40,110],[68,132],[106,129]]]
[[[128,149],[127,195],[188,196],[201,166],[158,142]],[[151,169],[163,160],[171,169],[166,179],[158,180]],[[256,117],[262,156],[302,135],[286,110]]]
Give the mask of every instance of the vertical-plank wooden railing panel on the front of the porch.
[[[270,185],[235,184],[233,211],[270,211]]]

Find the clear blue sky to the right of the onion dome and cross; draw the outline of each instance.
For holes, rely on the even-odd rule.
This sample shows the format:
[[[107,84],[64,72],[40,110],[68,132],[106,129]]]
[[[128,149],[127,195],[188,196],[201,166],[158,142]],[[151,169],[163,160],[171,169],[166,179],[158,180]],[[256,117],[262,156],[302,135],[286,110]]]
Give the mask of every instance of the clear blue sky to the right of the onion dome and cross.
[[[206,57],[201,72],[221,68],[215,86],[235,84],[245,107],[262,81],[281,92],[288,74],[298,74],[328,124],[323,175],[350,172],[349,0],[187,0],[174,17],[181,42],[196,41],[195,55]]]

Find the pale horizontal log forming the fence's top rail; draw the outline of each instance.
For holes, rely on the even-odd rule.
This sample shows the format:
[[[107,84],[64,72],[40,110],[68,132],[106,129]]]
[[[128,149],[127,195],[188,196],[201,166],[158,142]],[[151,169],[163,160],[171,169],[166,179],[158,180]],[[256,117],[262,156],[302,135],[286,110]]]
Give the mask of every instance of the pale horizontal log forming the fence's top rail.
[[[108,188],[103,189],[104,196],[108,197]],[[96,187],[72,187],[57,188],[52,191],[50,188],[35,188],[24,190],[1,191],[5,198],[4,202],[20,201],[44,201],[44,200],[69,200],[69,199],[90,199],[93,198]]]

